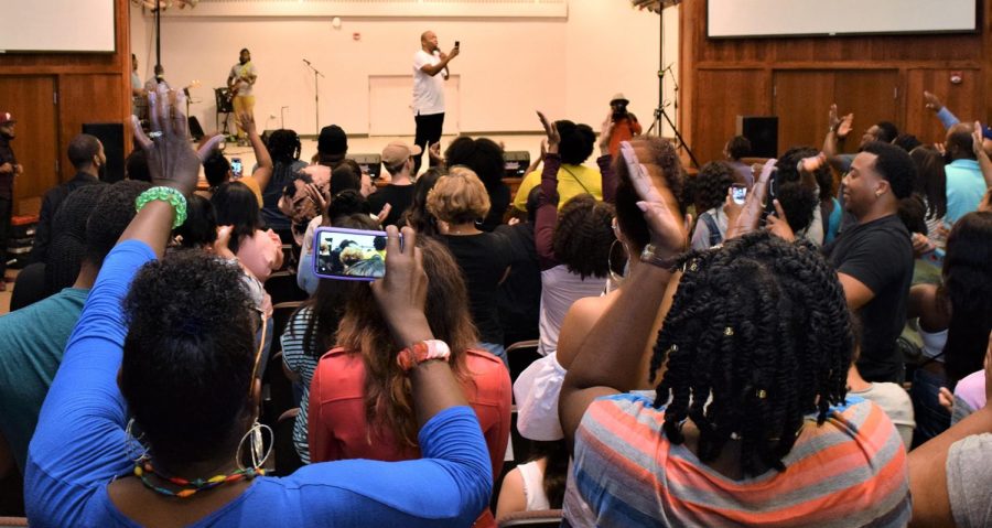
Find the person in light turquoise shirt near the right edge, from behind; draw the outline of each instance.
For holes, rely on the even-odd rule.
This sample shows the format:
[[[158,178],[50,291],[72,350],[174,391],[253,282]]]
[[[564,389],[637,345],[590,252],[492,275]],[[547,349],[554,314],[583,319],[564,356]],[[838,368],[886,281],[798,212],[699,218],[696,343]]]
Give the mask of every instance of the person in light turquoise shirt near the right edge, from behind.
[[[958,123],[947,130],[944,158],[947,162],[947,216],[948,226],[958,218],[978,209],[988,186],[975,157],[972,127]]]

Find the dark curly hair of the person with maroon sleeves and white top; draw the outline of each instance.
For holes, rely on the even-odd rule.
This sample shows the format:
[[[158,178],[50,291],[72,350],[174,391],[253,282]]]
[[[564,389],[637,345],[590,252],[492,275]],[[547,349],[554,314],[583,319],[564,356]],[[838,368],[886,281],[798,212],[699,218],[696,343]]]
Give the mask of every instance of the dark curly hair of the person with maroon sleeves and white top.
[[[591,194],[579,194],[565,202],[558,212],[551,241],[554,257],[583,280],[606,277],[610,248],[616,240],[614,214],[612,204],[600,202]]]

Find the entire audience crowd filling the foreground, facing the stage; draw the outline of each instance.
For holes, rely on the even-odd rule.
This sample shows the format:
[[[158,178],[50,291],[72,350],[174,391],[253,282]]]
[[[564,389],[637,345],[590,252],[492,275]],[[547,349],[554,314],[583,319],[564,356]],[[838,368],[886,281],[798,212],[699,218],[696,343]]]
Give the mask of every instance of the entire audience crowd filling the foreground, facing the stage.
[[[95,184],[72,142],[87,184],[0,316],[0,477],[33,526],[992,526],[992,130],[932,94],[939,146],[883,121],[844,153],[833,107],[822,148],[748,165],[730,138],[698,174],[539,115],[513,196],[487,138],[421,174],[391,142],[377,185],[341,127],[306,164],[247,114],[237,177],[165,90],[129,162],[153,183]],[[306,299],[281,324],[277,272]],[[382,278],[328,277],[355,274]]]

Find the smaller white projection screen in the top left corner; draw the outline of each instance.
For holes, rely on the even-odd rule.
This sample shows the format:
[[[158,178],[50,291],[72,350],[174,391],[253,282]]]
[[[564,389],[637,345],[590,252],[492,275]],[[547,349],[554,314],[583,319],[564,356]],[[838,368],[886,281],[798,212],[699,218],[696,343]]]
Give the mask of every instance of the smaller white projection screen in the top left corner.
[[[115,52],[114,0],[0,0],[0,52]]]

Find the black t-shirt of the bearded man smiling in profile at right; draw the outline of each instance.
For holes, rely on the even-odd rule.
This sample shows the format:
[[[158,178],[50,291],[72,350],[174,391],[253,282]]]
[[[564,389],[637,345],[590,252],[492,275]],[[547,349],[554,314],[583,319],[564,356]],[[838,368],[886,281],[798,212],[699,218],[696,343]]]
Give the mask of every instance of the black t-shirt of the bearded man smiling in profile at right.
[[[861,308],[863,327],[858,369],[869,381],[898,381],[903,358],[896,338],[906,323],[913,282],[913,245],[896,215],[844,229],[830,248],[839,273],[853,277],[875,294]]]

